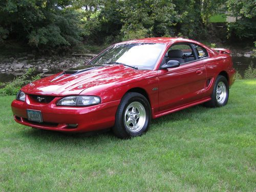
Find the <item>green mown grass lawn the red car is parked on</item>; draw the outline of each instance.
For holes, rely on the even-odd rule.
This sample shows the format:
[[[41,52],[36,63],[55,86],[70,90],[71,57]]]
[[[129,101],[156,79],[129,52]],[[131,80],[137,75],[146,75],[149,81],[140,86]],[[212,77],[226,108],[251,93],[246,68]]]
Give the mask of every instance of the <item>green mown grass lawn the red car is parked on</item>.
[[[255,191],[256,79],[228,104],[152,121],[142,137],[63,135],[15,123],[1,97],[0,191]]]

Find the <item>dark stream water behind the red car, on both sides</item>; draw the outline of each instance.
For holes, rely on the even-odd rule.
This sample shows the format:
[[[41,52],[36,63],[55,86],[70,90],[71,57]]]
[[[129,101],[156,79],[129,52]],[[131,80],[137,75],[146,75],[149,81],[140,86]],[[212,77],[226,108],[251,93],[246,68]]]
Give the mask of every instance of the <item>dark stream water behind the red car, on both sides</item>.
[[[232,57],[233,60],[233,66],[236,70],[239,71],[239,73],[243,76],[245,70],[252,65],[253,68],[256,68],[256,58],[252,57]],[[59,70],[61,71],[61,70]],[[55,74],[59,72],[58,70],[55,71],[48,71],[45,76],[48,76],[49,74]],[[39,73],[39,72],[38,72]],[[0,82],[9,82],[13,80],[17,75],[14,74],[6,74],[6,73],[0,73]]]

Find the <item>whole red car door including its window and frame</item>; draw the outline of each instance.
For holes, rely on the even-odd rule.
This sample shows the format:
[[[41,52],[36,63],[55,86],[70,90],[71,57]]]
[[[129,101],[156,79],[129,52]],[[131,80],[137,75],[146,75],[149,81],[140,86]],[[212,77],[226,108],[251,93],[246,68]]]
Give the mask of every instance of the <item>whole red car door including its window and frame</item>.
[[[167,52],[169,53],[172,49],[182,51],[183,58],[179,59],[179,61],[183,62],[184,60],[184,63],[181,63],[177,68],[158,71],[159,111],[176,108],[204,98],[206,69],[199,59],[194,46],[189,43],[179,43],[171,46]],[[167,57],[167,59],[172,60],[173,58]],[[175,58],[174,60],[178,59]],[[162,65],[165,62],[163,60]]]

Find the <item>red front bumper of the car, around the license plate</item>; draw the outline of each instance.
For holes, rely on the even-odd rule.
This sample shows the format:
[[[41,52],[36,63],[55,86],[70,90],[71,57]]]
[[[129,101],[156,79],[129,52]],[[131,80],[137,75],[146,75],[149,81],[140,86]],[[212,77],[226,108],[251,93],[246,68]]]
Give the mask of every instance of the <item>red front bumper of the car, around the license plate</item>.
[[[26,101],[14,100],[11,104],[14,120],[20,124],[37,129],[61,132],[88,132],[112,127],[120,100],[101,103],[86,107],[57,106],[60,98],[55,97],[49,103],[33,101],[28,95]],[[44,122],[37,123],[28,120],[27,109],[41,111]],[[77,124],[76,127],[69,124]]]

